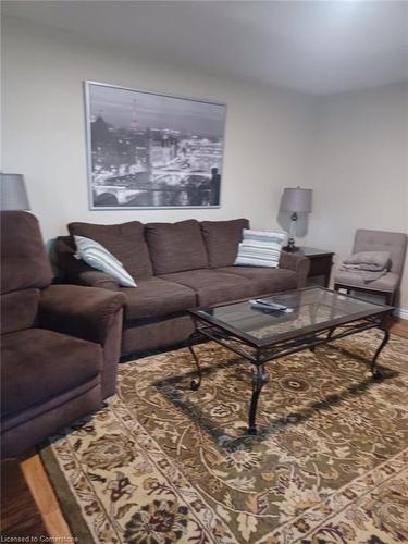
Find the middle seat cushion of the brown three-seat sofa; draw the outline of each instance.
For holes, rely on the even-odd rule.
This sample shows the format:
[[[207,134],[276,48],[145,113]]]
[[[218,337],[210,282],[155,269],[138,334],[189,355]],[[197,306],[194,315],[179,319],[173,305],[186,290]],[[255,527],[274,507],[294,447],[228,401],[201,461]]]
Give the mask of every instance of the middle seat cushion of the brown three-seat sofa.
[[[165,274],[163,279],[185,285],[197,294],[198,306],[209,306],[250,297],[254,286],[250,279],[218,270],[190,270]]]

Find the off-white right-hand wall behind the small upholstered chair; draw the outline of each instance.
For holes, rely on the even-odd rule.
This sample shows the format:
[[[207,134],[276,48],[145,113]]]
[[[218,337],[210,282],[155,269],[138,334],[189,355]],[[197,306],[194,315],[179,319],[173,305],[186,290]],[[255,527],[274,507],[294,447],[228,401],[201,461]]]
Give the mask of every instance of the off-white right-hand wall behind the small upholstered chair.
[[[316,114],[308,243],[338,262],[356,228],[408,233],[408,86],[321,97]],[[408,262],[401,292],[408,309]]]

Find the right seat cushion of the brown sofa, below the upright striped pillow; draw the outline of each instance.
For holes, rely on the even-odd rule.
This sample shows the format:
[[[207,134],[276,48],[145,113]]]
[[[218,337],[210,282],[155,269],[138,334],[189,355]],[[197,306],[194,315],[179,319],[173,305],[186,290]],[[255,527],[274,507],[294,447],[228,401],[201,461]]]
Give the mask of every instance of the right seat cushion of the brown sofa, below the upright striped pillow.
[[[254,293],[261,295],[297,288],[297,275],[293,270],[261,267],[224,267],[220,272],[250,280]],[[256,292],[255,292],[256,290]]]

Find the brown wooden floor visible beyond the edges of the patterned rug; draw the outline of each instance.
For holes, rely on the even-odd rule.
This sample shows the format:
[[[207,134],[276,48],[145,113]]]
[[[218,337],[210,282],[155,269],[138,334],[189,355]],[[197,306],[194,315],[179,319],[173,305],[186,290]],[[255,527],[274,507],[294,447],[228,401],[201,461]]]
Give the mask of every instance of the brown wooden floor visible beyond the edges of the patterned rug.
[[[408,320],[395,319],[390,331],[408,338]],[[37,536],[40,542],[40,536],[49,535],[70,542],[73,535],[39,456],[5,459],[1,462],[1,536],[29,535]]]

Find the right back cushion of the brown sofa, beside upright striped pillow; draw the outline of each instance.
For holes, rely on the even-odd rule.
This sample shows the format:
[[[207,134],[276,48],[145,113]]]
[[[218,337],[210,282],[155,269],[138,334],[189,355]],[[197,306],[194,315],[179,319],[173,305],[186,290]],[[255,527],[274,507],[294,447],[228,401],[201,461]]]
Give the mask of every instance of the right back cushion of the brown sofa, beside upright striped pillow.
[[[201,222],[210,268],[231,267],[234,263],[244,228],[249,228],[247,219]]]

